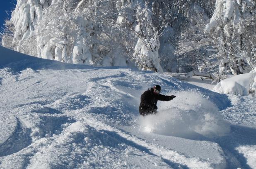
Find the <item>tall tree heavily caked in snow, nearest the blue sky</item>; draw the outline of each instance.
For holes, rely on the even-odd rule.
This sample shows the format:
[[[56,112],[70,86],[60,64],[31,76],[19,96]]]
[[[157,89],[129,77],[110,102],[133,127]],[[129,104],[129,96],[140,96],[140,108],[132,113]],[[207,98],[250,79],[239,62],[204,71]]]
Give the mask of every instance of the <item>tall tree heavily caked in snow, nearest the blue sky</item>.
[[[51,5],[51,0],[17,0],[11,21],[15,26],[13,44],[17,51],[36,55],[36,28],[43,18],[43,9]]]

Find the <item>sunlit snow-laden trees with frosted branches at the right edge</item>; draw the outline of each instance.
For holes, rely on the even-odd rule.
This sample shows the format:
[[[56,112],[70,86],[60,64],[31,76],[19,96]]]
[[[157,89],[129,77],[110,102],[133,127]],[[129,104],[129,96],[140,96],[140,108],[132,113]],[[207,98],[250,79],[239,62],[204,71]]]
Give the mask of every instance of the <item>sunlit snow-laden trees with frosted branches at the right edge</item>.
[[[180,42],[177,53],[199,59],[198,69],[212,73],[217,80],[228,74],[249,73],[256,67],[255,14],[255,0],[216,0],[210,21],[205,25],[201,10],[196,15],[199,22],[194,19],[190,24],[189,32],[194,35]],[[197,26],[201,29],[193,29]]]

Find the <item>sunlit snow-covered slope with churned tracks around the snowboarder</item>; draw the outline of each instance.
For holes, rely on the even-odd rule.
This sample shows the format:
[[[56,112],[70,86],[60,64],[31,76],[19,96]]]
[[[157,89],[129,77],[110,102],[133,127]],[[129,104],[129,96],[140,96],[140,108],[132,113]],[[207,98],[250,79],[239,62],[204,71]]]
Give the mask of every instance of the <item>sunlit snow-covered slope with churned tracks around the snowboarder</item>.
[[[155,84],[177,96],[140,117]],[[256,101],[0,46],[0,168],[256,168]]]

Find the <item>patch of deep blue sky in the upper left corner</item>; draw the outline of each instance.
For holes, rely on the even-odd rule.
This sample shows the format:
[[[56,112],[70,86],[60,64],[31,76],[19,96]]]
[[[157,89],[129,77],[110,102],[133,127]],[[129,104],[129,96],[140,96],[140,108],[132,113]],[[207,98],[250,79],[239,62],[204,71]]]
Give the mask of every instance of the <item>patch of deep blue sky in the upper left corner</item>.
[[[17,4],[17,0],[1,0],[1,5],[0,5],[0,31],[2,31],[5,19],[7,19],[7,18],[10,19],[11,14],[12,14],[11,11],[15,8],[16,4]]]

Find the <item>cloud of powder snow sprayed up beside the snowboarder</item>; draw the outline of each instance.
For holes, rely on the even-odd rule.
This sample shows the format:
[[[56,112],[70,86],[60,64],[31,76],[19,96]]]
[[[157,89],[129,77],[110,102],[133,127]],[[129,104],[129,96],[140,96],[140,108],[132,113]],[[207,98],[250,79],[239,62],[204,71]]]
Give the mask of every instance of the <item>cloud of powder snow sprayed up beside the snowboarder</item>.
[[[168,136],[223,136],[230,127],[215,104],[197,92],[177,92],[169,102],[159,103],[159,113],[140,118],[147,132]]]

